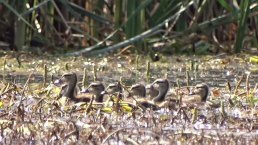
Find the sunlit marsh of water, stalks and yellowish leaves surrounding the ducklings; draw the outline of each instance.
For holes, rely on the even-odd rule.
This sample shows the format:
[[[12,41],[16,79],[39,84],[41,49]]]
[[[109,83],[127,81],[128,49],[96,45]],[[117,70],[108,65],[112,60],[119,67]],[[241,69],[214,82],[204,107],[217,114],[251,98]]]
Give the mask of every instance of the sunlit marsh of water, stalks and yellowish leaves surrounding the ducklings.
[[[146,57],[141,55],[137,56],[136,69],[134,55],[45,59],[20,54],[18,63],[12,57],[17,53],[5,54],[0,77],[3,143],[257,143],[258,74],[256,63],[245,59],[248,55],[160,55],[159,61],[150,62],[147,77]],[[57,99],[60,87],[53,81],[63,72],[74,71],[78,85],[84,88],[85,68],[83,85],[87,87],[94,79],[92,65],[95,65],[96,80],[105,86],[121,79],[122,86],[129,89],[134,83],[147,84],[165,76],[171,88],[178,88],[177,83],[183,87],[187,83],[205,82],[211,92],[208,98],[220,107],[175,105],[154,111],[140,109],[137,104],[125,105],[122,102],[127,101],[126,97],[102,105],[92,102],[61,105],[61,99]],[[178,89],[178,100],[188,92]],[[115,100],[117,95],[112,98]]]

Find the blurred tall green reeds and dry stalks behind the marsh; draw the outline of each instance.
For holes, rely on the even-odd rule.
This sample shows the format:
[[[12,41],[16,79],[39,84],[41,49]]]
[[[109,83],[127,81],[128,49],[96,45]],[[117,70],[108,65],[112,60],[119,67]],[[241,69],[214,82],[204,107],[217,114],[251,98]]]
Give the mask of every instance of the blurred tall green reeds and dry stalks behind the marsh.
[[[258,0],[0,0],[0,48],[257,53]]]

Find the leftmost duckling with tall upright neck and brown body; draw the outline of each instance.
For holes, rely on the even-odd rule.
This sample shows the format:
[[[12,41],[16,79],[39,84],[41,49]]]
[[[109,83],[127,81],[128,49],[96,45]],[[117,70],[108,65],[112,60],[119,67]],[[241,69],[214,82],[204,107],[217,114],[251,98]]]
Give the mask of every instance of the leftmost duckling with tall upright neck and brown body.
[[[54,81],[54,84],[55,85],[61,84],[58,98],[60,98],[62,96],[66,96],[76,103],[77,102],[89,102],[91,99],[91,97],[83,96],[83,94],[80,94],[79,96],[77,95],[77,88],[76,88],[77,75],[74,72],[63,73],[59,79]],[[97,94],[96,92],[98,90],[101,92],[102,91],[101,88],[102,88],[101,84],[96,85],[96,87],[93,88],[93,89],[96,89],[95,91],[93,91],[93,92],[95,92],[94,94],[96,95]],[[100,94],[100,92],[99,92],[99,94]],[[99,98],[99,95],[95,96],[95,100],[101,100],[101,98]],[[62,104],[65,104],[65,103],[62,102]]]

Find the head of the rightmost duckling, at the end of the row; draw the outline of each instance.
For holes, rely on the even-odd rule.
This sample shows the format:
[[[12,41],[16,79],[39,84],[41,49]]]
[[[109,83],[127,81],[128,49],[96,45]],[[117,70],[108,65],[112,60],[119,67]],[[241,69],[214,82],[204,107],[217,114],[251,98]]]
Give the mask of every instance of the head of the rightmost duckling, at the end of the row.
[[[201,97],[201,101],[206,101],[209,95],[209,87],[206,83],[197,84],[190,95],[191,94],[199,95]]]

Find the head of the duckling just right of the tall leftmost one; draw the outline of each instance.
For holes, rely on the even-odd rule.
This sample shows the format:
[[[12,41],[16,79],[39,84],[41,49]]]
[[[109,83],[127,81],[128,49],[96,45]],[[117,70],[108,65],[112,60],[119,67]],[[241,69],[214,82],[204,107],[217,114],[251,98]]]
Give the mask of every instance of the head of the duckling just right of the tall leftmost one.
[[[88,85],[86,89],[81,90],[81,93],[91,93],[95,95],[95,101],[102,102],[103,95],[100,93],[104,90],[104,85],[101,82],[92,82]]]

